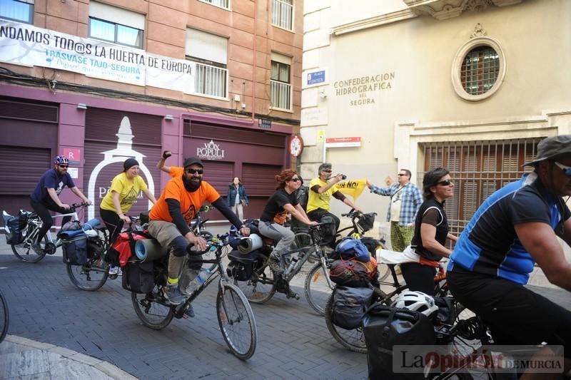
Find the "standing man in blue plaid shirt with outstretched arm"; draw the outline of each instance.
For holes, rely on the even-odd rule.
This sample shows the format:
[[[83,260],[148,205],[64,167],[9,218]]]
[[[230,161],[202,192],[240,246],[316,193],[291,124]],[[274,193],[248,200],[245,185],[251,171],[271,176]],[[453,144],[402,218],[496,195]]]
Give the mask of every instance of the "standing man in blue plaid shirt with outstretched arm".
[[[403,252],[410,245],[415,229],[413,223],[418,207],[423,203],[423,193],[410,182],[410,170],[400,169],[398,181],[387,188],[379,188],[367,180],[370,192],[390,197],[387,221],[390,222],[390,245],[393,250]]]

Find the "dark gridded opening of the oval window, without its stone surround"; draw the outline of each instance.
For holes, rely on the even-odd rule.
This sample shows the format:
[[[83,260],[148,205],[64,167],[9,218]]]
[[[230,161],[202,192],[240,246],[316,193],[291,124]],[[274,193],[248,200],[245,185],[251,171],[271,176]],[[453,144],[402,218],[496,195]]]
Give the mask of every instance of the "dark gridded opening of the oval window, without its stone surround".
[[[460,81],[471,95],[486,93],[495,84],[500,72],[500,57],[490,46],[473,48],[460,66]]]

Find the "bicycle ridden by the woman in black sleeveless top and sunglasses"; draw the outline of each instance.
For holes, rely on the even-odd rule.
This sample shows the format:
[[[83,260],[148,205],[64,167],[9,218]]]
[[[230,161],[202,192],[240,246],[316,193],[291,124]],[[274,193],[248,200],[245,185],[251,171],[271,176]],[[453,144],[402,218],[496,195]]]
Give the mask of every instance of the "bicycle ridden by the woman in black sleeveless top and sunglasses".
[[[379,263],[381,264],[381,263]],[[408,289],[407,284],[401,284],[398,280],[398,276],[395,272],[395,265],[387,265],[389,272],[391,274],[392,282],[388,281],[378,281],[378,284],[373,285],[373,290],[375,291],[375,296],[378,302],[383,304],[390,304],[393,302],[395,296]],[[448,296],[448,283],[446,282],[446,274],[444,272],[444,265],[440,265],[437,274],[434,277],[435,283],[435,297],[446,297]],[[391,292],[385,293],[381,286],[388,286],[393,289]],[[458,304],[459,305],[459,304]],[[455,313],[460,314],[464,307],[455,307]],[[358,329],[346,330],[338,327],[333,322],[333,293],[330,294],[327,303],[325,304],[325,324],[330,334],[339,342],[342,346],[350,351],[359,352],[361,354],[366,354],[367,346],[365,345],[365,337],[363,336],[363,329],[360,327]]]

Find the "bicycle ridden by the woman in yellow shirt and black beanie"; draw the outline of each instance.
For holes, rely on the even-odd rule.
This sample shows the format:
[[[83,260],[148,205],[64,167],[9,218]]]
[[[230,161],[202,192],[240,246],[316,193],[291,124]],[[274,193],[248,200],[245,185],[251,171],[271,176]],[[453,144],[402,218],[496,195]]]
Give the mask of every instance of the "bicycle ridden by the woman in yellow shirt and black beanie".
[[[143,227],[137,225],[141,222],[141,217],[129,217],[129,223],[126,231],[142,231]],[[109,249],[109,236],[106,227],[96,227],[103,237],[88,237],[87,252],[89,252],[88,260],[85,265],[66,265],[67,274],[71,283],[79,290],[87,292],[95,292],[100,289],[107,279],[116,279],[117,274],[109,274],[109,263],[106,262],[105,253]]]

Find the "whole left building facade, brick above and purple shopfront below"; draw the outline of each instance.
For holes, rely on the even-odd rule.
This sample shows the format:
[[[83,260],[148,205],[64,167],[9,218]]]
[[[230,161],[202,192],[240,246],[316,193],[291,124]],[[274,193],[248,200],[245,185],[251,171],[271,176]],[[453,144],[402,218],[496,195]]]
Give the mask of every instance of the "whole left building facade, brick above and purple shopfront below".
[[[94,201],[89,217],[126,158],[158,197],[171,150],[167,165],[203,159],[223,196],[240,177],[259,217],[295,165],[302,28],[298,0],[2,1],[0,208],[29,209],[56,155]]]

